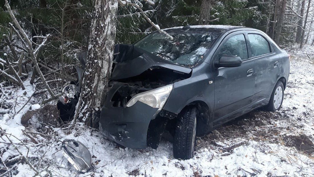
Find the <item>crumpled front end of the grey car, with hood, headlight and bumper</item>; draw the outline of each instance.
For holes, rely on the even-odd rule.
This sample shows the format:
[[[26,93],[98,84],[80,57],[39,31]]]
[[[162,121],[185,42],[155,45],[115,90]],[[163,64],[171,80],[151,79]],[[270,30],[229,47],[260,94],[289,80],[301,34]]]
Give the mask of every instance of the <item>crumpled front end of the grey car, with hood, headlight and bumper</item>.
[[[173,83],[191,77],[192,70],[171,65],[135,46],[117,45],[115,53],[100,131],[126,147],[157,148],[169,120],[162,107]]]

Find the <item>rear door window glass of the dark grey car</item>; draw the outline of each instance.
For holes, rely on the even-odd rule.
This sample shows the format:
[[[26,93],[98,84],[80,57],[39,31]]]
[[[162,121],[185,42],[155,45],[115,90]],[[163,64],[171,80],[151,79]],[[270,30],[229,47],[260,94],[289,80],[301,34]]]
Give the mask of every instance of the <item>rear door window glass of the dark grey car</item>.
[[[248,34],[248,36],[250,40],[252,56],[260,56],[270,53],[269,43],[262,35]]]

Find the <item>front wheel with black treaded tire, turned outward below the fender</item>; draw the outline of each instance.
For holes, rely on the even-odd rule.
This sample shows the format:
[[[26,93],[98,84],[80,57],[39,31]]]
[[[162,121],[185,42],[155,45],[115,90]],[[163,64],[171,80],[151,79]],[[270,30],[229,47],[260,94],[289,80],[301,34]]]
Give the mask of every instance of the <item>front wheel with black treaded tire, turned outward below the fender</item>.
[[[188,106],[178,115],[173,139],[174,158],[190,159],[193,157],[196,144],[197,109]]]

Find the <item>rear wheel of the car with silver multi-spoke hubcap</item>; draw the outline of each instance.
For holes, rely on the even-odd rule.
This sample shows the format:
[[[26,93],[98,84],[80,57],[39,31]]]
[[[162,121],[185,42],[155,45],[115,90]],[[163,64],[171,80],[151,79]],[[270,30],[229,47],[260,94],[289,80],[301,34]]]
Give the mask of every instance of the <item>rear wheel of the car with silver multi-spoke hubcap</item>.
[[[281,108],[282,101],[284,99],[284,84],[281,81],[278,81],[275,85],[275,88],[270,96],[270,100],[266,109],[269,111],[276,111]]]

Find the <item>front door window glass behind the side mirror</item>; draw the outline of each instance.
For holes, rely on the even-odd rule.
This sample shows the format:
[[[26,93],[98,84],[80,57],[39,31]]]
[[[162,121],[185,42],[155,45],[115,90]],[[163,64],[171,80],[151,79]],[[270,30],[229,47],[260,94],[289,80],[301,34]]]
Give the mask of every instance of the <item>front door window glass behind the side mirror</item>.
[[[242,60],[247,58],[246,41],[243,34],[230,37],[219,51],[218,58],[222,56],[240,56]]]

